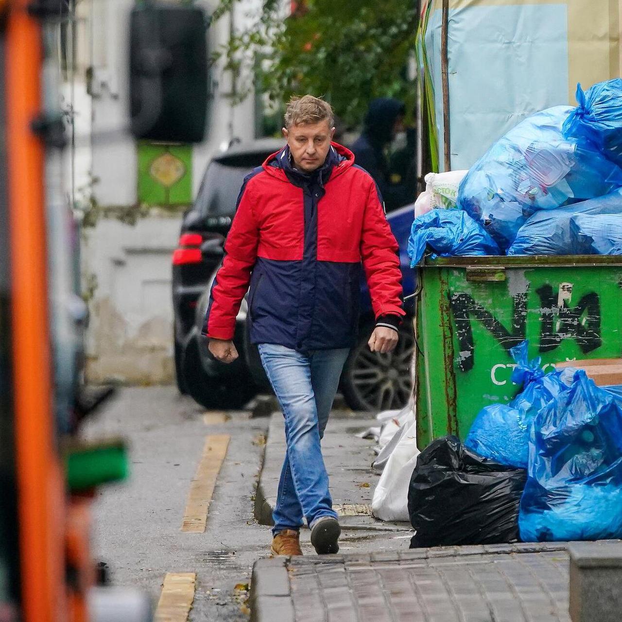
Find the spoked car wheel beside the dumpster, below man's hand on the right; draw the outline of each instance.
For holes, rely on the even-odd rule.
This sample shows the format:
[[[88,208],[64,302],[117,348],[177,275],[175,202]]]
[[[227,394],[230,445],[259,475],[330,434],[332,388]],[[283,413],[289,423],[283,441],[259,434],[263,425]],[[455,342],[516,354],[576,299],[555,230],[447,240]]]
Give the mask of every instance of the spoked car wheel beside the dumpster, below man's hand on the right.
[[[412,330],[401,328],[396,349],[388,354],[369,350],[370,333],[369,329],[361,332],[343,368],[343,397],[354,411],[402,409],[412,394],[410,370],[415,347]]]

